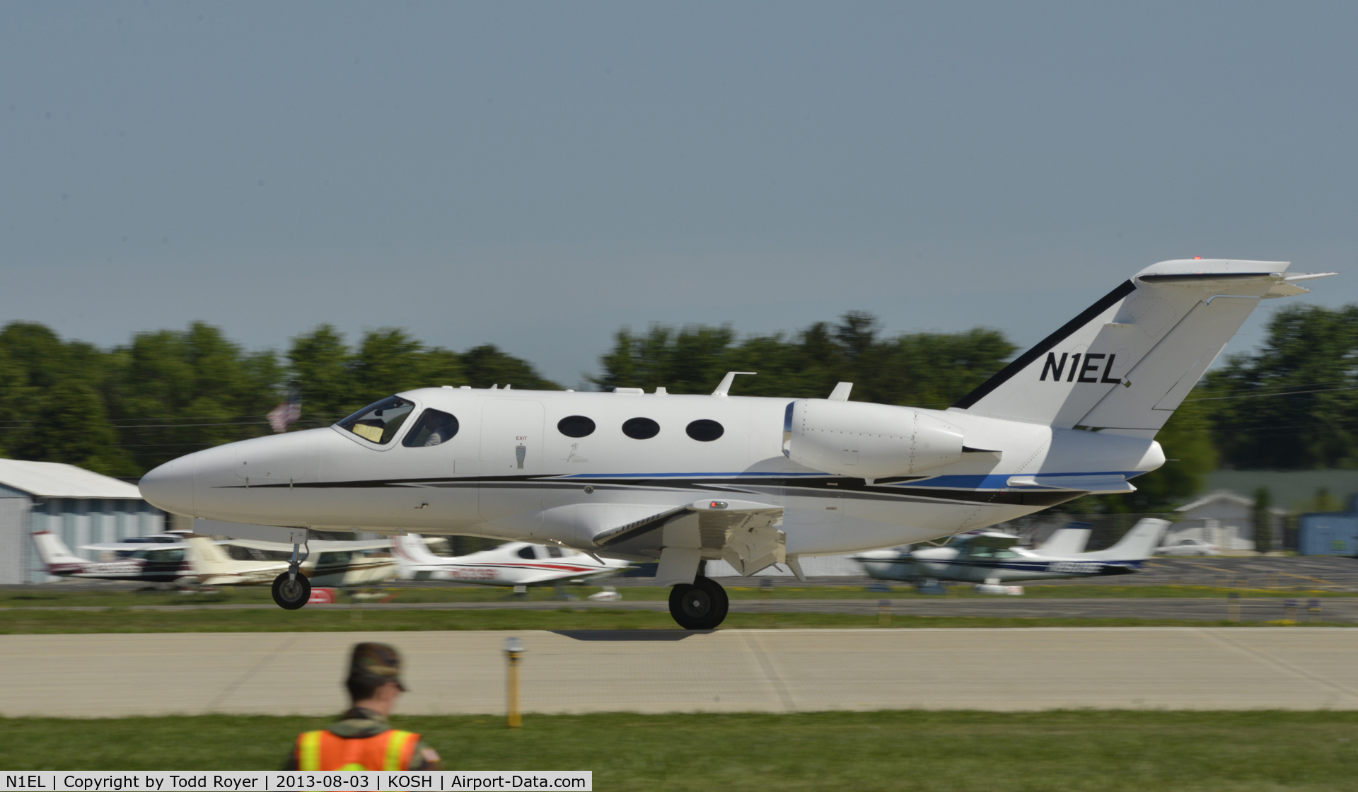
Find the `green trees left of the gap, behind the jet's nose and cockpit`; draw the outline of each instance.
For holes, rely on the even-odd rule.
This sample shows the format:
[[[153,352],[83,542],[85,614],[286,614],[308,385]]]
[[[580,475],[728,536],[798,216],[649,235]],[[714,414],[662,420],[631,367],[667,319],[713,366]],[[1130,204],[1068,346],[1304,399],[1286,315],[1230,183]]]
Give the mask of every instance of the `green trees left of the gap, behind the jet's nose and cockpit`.
[[[270,432],[268,413],[299,398],[293,428],[323,427],[399,390],[430,384],[557,389],[494,346],[452,352],[405,330],[345,344],[322,325],[287,353],[249,352],[217,327],[139,333],[126,346],[62,341],[12,322],[0,330],[0,455],[140,475],[221,443]]]

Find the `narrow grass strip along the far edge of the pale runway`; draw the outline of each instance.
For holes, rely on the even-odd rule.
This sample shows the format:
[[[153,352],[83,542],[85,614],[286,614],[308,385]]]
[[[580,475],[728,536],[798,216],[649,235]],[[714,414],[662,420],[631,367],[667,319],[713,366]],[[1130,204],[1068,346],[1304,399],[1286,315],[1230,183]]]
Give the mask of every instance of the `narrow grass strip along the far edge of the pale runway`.
[[[835,613],[733,613],[722,629],[877,628],[877,615]],[[1259,622],[1149,618],[1004,618],[892,615],[892,628],[1047,628],[1047,626],[1264,626]],[[1321,626],[1350,626],[1325,622]],[[1358,625],[1353,625],[1358,626]],[[555,610],[8,610],[0,634],[19,633],[239,633],[349,630],[671,630],[668,611],[610,607]]]

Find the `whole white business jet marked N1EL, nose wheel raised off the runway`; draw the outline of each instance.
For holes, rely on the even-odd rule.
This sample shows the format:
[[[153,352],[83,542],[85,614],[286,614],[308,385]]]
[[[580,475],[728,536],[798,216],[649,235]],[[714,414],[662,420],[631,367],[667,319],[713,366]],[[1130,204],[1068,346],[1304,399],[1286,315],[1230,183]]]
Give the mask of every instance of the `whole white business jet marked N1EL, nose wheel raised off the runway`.
[[[1164,465],[1156,432],[1249,311],[1304,293],[1287,264],[1184,259],[1124,281],[947,410],[663,389],[429,387],[338,424],[167,462],[141,480],[181,515],[323,531],[473,534],[659,561],[669,613],[710,629],[741,575],[923,542]],[[1334,273],[1327,273],[1334,274]],[[300,533],[300,531],[296,531]],[[301,572],[278,576],[304,602]]]

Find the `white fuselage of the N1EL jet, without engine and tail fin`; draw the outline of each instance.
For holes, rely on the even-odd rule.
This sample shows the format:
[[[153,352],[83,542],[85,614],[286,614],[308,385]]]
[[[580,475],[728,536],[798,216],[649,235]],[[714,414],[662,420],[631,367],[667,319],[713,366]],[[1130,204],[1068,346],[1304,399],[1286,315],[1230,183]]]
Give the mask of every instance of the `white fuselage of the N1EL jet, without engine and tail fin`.
[[[591,552],[600,504],[626,515],[731,497],[782,508],[786,552],[800,556],[990,526],[1082,494],[1042,486],[1043,477],[1131,478],[1164,462],[1148,436],[918,410],[957,427],[967,452],[952,465],[873,481],[789,459],[790,398],[448,387],[399,395],[414,403],[411,416],[455,416],[456,433],[405,446],[402,437],[416,431],[409,420],[386,444],[340,427],[258,437],[163,465],[143,480],[143,493],[167,511],[216,520],[471,534]],[[569,416],[596,428],[568,436],[558,422]],[[625,435],[623,422],[638,417],[659,424],[659,433]],[[721,436],[693,439],[686,427],[698,420],[718,422]],[[593,504],[589,520],[580,516],[583,504]]]

